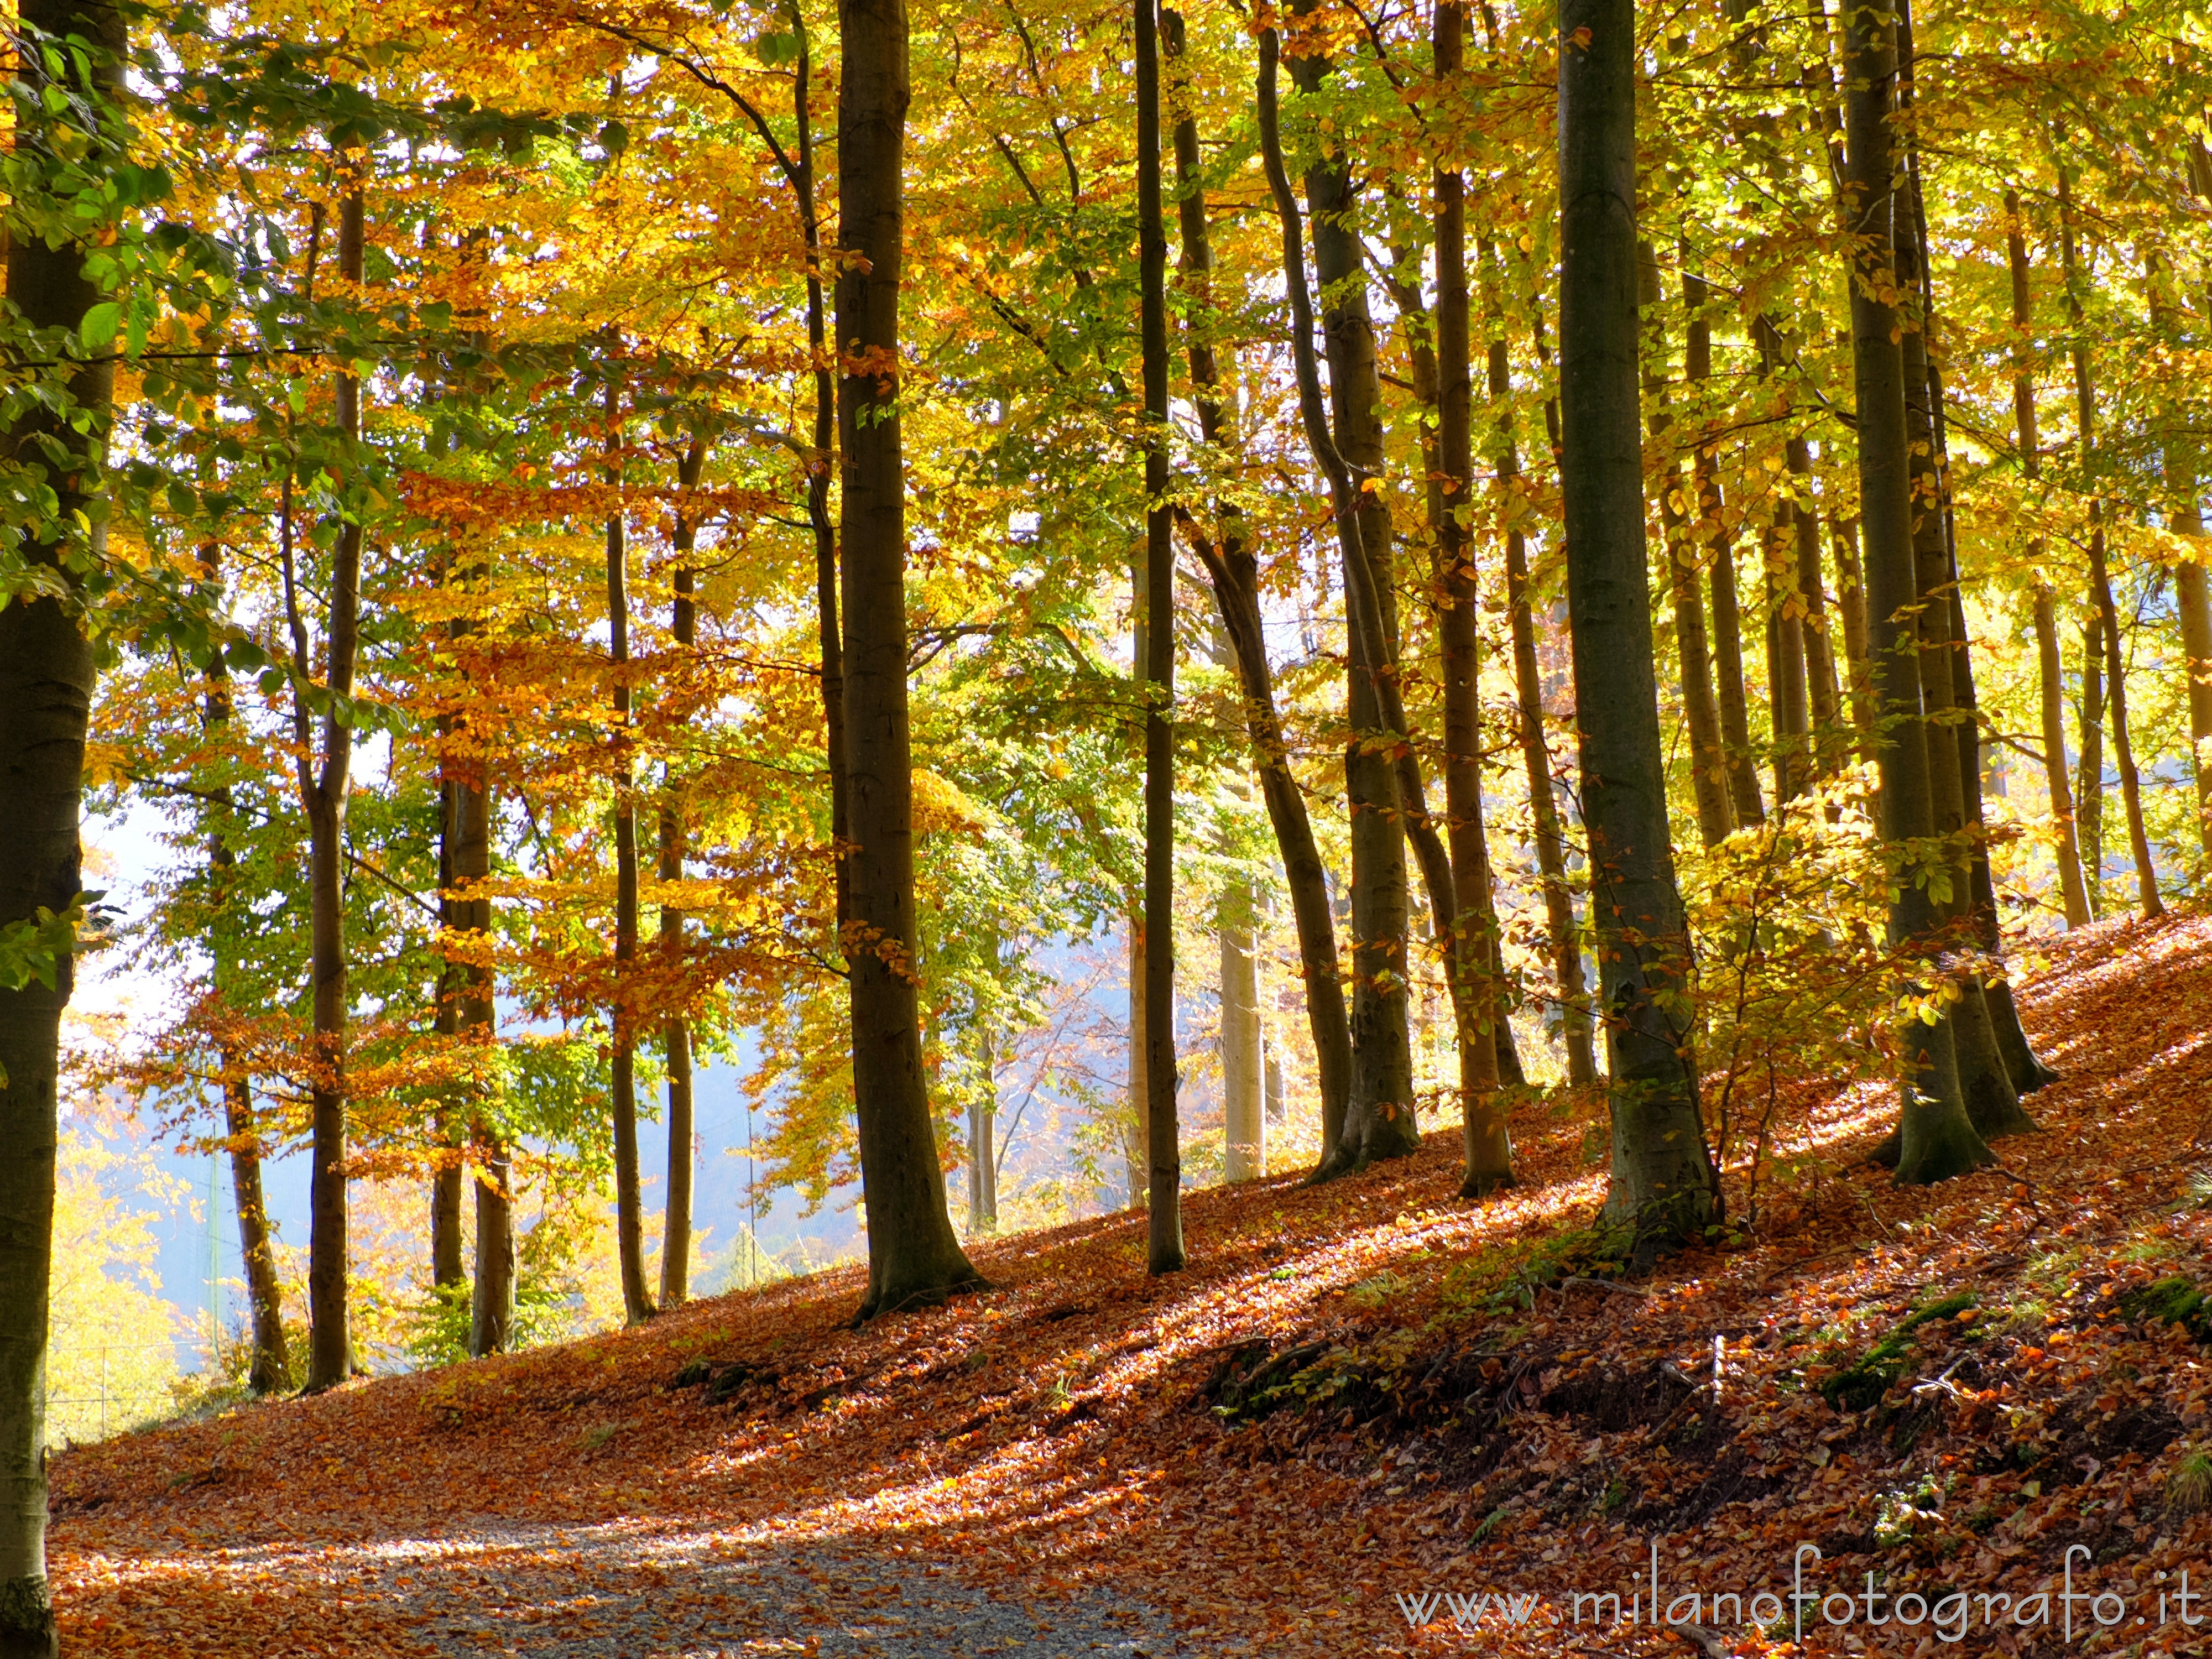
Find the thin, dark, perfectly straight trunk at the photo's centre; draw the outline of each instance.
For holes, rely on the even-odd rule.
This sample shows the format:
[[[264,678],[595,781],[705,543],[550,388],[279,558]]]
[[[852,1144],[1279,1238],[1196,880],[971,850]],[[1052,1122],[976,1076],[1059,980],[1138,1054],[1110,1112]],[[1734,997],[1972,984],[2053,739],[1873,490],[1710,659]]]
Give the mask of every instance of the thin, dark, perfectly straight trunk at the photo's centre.
[[[1159,177],[1159,20],[1137,0],[1137,250],[1144,349],[1144,1119],[1146,1259],[1183,1267],[1183,1148],[1175,1091],[1175,520],[1168,507],[1168,226]]]

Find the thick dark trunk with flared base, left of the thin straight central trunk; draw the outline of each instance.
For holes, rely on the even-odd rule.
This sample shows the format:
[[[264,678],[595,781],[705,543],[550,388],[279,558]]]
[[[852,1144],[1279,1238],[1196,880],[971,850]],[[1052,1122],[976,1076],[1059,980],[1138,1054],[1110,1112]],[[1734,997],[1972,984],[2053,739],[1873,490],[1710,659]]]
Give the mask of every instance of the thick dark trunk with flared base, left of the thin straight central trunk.
[[[854,849],[845,960],[867,1203],[858,1318],[982,1285],[945,1208],[914,967],[914,757],[907,723],[907,518],[898,414],[907,7],[838,0],[838,449],[845,768]]]

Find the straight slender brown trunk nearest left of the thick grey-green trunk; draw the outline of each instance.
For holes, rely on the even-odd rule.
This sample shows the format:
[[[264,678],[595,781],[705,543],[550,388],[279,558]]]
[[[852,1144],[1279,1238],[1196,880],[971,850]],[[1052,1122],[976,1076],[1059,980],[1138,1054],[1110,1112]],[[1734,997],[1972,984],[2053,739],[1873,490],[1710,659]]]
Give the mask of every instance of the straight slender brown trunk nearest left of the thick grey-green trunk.
[[[1436,80],[1449,88],[1467,62],[1467,7],[1440,0],[1433,35]],[[1451,918],[1449,971],[1460,1024],[1460,1137],[1467,1170],[1462,1199],[1513,1186],[1513,1139],[1506,1102],[1498,1091],[1495,964],[1498,925],[1482,902],[1491,889],[1491,852],[1482,830],[1482,653],[1478,630],[1473,538],[1473,345],[1467,283],[1467,175],[1436,170],[1436,447],[1442,462],[1436,513],[1438,635],[1444,675],[1444,818],[1451,830],[1451,880],[1458,916]]]

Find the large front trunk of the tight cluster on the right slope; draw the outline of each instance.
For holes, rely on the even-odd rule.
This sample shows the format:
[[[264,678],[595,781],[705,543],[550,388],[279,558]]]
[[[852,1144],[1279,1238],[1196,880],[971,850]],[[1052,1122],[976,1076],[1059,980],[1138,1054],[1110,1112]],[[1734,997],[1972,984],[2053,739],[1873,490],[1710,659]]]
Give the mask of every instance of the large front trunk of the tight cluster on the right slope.
[[[1896,305],[1896,195],[1891,95],[1896,20],[1876,7],[1845,11],[1847,199],[1856,237],[1851,270],[1851,358],[1858,409],[1858,493],[1865,535],[1867,648],[1880,728],[1882,825],[1905,849],[1893,876],[1889,938],[1913,949],[1936,922],[1924,872],[1911,849],[1933,834],[1929,737],[1920,714],[1920,639],[1913,630],[1913,473],[1907,438],[1902,327]],[[1920,987],[1929,993],[1927,987]],[[1942,1181],[1991,1161],[1966,1117],[1951,1020],[1907,1018],[1898,1181]]]

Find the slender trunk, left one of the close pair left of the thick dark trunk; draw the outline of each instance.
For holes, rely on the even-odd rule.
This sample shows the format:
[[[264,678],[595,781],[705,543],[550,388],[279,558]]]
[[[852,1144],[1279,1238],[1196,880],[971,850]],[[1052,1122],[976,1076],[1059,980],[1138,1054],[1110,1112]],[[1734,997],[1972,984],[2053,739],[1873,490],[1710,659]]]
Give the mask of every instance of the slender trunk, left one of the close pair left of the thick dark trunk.
[[[622,394],[606,383],[606,480],[622,482]],[[630,1325],[653,1318],[646,1290],[644,1179],[637,1168],[637,776],[630,759],[630,568],[624,513],[606,515],[606,633],[615,686],[615,995],[608,1011],[608,1106],[615,1119],[615,1256],[622,1263],[622,1310]]]

